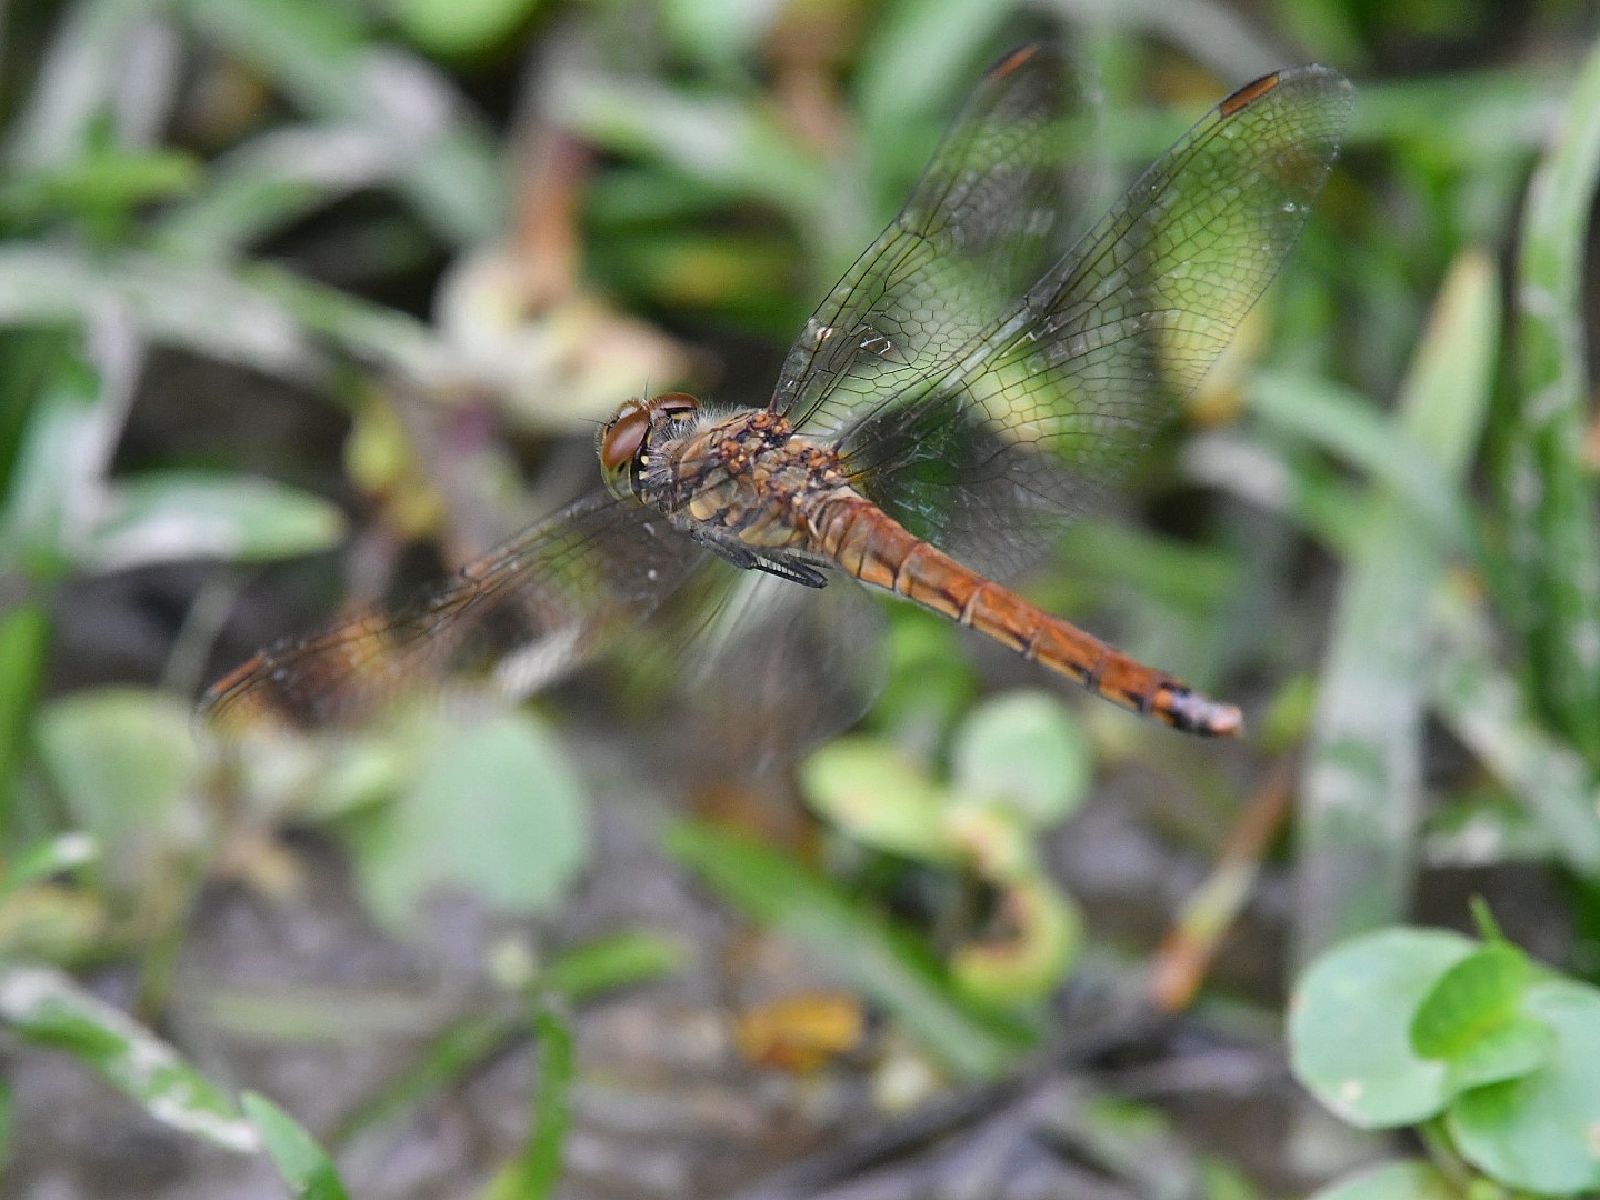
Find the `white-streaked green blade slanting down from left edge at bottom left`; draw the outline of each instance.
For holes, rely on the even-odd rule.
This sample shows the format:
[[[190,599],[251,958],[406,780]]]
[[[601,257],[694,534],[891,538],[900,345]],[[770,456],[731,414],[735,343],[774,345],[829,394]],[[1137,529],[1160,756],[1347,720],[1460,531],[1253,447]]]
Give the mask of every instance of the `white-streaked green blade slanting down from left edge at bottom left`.
[[[174,1130],[253,1152],[256,1131],[178,1051],[61,971],[0,962],[0,1019],[24,1042],[64,1050]]]

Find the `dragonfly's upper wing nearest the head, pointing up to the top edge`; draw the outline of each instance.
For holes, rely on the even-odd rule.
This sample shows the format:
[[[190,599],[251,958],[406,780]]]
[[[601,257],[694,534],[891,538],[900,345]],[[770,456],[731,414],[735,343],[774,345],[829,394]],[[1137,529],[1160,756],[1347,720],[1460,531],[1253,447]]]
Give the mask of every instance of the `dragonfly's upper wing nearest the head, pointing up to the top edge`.
[[[1093,115],[1059,53],[1002,59],[899,216],[806,322],[771,406],[803,434],[835,435],[1014,307],[1075,232],[1062,229],[1078,190],[1069,166],[1086,158]]]

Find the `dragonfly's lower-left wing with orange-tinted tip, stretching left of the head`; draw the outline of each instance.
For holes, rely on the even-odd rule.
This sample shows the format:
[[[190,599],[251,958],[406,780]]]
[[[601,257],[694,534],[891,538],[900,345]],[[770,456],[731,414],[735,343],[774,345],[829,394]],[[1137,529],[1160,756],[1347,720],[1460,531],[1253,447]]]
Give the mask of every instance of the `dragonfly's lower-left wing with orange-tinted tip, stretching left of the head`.
[[[222,733],[259,718],[350,726],[442,686],[526,696],[635,627],[704,557],[659,514],[590,496],[398,611],[261,651],[200,715]]]

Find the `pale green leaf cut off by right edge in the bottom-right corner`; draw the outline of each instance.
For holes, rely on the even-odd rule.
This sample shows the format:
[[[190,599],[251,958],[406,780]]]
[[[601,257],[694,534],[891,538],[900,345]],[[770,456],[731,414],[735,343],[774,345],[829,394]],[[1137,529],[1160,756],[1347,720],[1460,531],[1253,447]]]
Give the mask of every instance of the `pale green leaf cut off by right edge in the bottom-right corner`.
[[[1600,990],[1570,981],[1536,984],[1523,1013],[1555,1035],[1530,1075],[1474,1088],[1446,1112],[1474,1166],[1541,1195],[1600,1189]]]

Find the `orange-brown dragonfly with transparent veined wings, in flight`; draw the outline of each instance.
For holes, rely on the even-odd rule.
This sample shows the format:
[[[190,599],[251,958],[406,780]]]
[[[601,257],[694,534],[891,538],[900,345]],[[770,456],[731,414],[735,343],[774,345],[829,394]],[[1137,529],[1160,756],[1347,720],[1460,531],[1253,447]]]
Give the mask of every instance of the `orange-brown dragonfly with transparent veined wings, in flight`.
[[[790,589],[851,576],[1174,730],[1237,734],[1237,706],[994,576],[1037,555],[1200,386],[1299,235],[1350,102],[1322,66],[1246,83],[1088,221],[1069,160],[1090,88],[1053,46],[1006,54],[763,406],[629,400],[598,430],[603,490],[398,611],[262,650],[203,715],[350,725],[459,680],[523,696],[720,570]],[[1070,224],[1083,232],[1059,251]]]

